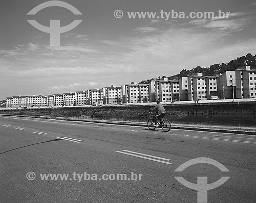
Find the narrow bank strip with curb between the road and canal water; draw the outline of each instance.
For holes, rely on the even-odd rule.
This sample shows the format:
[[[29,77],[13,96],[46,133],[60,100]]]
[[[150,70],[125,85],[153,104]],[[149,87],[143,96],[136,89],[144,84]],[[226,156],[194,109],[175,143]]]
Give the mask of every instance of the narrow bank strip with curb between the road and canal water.
[[[52,117],[52,116],[28,116],[28,115],[24,116],[24,115],[4,115],[4,114],[0,114],[0,115],[1,116],[16,116],[16,117],[31,117],[31,118],[41,118],[41,119],[79,121],[79,122],[92,122],[92,123],[105,123],[105,124],[118,124],[118,125],[132,125],[132,126],[143,126],[145,128],[147,127],[146,120],[145,121],[114,121],[114,120],[111,121],[111,120],[81,119],[81,118]],[[256,128],[245,127],[245,126],[172,123],[172,129],[256,135]],[[172,132],[172,131],[170,131],[170,132]]]

